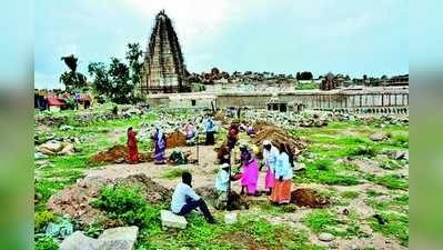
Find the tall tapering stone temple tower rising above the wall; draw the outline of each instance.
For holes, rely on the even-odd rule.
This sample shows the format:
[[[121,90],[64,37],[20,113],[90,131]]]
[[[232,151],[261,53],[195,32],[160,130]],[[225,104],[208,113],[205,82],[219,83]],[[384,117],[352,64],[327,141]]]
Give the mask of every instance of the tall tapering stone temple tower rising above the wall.
[[[141,93],[183,92],[189,88],[179,39],[164,10],[155,17],[155,24],[144,57]]]

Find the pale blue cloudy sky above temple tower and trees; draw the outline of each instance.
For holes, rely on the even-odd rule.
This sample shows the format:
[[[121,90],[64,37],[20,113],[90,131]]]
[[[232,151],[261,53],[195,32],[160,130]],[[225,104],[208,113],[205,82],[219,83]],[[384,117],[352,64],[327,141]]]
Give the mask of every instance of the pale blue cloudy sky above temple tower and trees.
[[[34,3],[34,86],[61,88],[61,57],[124,60],[155,14],[172,19],[190,72],[409,72],[407,0],[46,0]]]

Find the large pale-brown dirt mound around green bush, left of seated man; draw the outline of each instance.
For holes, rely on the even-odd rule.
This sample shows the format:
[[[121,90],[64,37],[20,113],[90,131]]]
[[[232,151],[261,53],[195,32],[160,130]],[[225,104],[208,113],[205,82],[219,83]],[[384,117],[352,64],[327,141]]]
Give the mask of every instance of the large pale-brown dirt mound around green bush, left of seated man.
[[[52,196],[47,207],[56,213],[69,214],[83,224],[90,224],[104,218],[104,213],[92,208],[90,202],[99,197],[102,187],[119,183],[140,187],[147,200],[153,203],[171,199],[171,190],[163,188],[143,173],[114,180],[88,176]]]

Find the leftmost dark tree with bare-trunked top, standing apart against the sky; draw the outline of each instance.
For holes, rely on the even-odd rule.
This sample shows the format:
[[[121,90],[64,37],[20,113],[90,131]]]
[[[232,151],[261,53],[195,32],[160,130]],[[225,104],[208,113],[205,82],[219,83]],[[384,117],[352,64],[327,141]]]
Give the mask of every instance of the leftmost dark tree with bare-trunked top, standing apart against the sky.
[[[71,92],[73,90],[80,90],[87,87],[87,77],[84,77],[82,73],[77,72],[78,58],[75,58],[73,54],[70,54],[67,57],[62,57],[61,60],[64,61],[64,64],[67,64],[70,69],[70,71],[64,71],[60,76],[60,82],[64,84],[67,91]]]

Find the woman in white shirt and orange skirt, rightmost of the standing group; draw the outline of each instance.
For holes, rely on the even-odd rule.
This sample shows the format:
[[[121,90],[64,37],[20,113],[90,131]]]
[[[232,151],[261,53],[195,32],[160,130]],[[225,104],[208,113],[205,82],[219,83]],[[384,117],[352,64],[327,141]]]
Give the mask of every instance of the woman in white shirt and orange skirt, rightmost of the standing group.
[[[274,171],[274,188],[271,201],[275,204],[289,203],[291,201],[293,154],[285,143],[280,144],[280,154]]]

